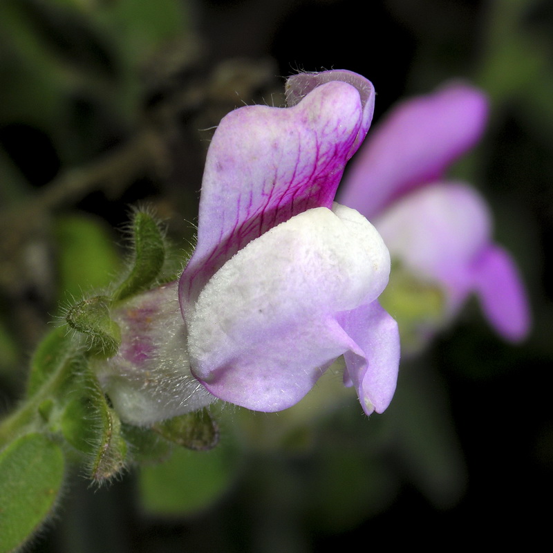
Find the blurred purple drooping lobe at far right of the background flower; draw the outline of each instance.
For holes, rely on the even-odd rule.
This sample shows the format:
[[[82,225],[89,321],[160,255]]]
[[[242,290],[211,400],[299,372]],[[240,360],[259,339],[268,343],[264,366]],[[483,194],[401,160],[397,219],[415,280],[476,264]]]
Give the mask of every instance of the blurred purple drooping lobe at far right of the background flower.
[[[507,340],[525,338],[530,328],[529,305],[512,257],[503,248],[490,245],[474,266],[474,278],[491,326]]]

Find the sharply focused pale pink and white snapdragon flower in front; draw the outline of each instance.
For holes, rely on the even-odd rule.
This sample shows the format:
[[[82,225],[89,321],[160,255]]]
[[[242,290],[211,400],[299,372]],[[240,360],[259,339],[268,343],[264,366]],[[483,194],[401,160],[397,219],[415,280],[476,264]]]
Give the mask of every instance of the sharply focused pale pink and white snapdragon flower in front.
[[[149,424],[217,398],[286,409],[340,355],[366,413],[391,401],[399,335],[377,301],[388,250],[333,202],[371,123],[373,86],[348,71],[295,75],[287,101],[223,118],[180,280],[113,309],[122,344],[97,374],[123,420]]]

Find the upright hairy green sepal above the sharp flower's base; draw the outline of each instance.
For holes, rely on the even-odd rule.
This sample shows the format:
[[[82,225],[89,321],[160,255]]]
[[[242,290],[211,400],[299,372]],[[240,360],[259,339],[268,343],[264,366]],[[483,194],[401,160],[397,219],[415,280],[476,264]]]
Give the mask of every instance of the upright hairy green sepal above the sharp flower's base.
[[[132,232],[133,268],[115,290],[114,301],[126,299],[151,288],[165,263],[165,240],[158,223],[149,214],[135,213]]]

